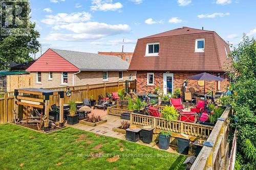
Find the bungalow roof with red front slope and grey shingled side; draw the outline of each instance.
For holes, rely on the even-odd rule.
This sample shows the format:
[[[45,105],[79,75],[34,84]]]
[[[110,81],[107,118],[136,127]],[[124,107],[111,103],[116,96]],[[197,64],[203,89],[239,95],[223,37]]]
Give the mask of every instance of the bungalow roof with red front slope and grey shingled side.
[[[49,48],[27,71],[127,70],[129,63],[116,56]]]

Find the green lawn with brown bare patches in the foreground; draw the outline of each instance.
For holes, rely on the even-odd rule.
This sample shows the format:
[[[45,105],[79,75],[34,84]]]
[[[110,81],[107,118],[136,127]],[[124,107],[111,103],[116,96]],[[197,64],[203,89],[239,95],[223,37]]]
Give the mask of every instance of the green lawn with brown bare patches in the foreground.
[[[0,169],[184,169],[184,156],[73,128],[0,125]]]

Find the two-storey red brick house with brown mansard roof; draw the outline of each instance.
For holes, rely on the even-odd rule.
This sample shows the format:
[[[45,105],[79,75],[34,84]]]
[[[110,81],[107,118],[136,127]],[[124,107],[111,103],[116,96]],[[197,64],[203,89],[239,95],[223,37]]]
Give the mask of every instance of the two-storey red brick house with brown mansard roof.
[[[155,87],[174,92],[189,76],[201,72],[226,79],[229,52],[229,45],[216,32],[183,27],[138,39],[129,70],[137,70],[139,93],[153,92]],[[203,91],[199,85],[188,80],[188,87]],[[205,84],[206,91],[224,91],[226,85],[227,79]]]

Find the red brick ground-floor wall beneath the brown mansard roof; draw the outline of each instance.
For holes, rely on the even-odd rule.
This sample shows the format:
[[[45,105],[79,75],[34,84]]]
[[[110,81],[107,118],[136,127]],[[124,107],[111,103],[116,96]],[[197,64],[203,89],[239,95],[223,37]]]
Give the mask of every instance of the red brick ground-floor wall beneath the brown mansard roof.
[[[154,72],[154,71],[148,71]],[[154,85],[147,85],[147,71],[137,71],[137,92],[139,93],[153,93],[155,87],[160,87],[163,90],[163,71],[154,72]],[[172,72],[174,74],[174,89],[182,89],[182,84],[189,76],[194,76],[200,74],[200,72]],[[218,75],[217,72],[209,72],[212,75]],[[222,78],[226,79],[226,76],[221,74]],[[227,80],[220,82],[220,91],[226,91]],[[196,91],[203,91],[204,86],[199,86],[196,80],[188,79],[188,88],[194,87]],[[217,91],[217,82],[216,81],[205,81],[205,91],[213,90]]]

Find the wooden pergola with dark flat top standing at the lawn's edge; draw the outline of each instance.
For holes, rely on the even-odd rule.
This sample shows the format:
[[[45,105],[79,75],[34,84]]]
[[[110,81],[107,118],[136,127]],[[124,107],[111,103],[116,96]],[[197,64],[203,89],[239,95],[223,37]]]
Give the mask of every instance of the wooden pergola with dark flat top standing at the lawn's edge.
[[[63,127],[63,102],[64,92],[40,88],[22,88],[14,90],[14,111],[18,113],[18,105],[40,108],[45,113],[45,132],[49,127],[50,95],[59,95],[59,127]],[[42,96],[42,97],[41,97]],[[42,114],[42,113],[41,113]]]

